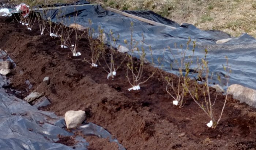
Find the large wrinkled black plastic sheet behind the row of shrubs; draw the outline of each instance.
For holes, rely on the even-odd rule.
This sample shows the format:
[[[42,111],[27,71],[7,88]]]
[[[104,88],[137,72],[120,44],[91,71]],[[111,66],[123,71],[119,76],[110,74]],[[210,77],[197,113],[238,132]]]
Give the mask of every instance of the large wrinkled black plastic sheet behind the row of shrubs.
[[[76,11],[74,11],[76,10]],[[217,74],[224,78],[226,72],[223,70],[223,65],[226,65],[225,56],[229,58],[229,65],[231,66],[232,74],[230,77],[230,84],[241,84],[246,87],[256,89],[256,39],[248,34],[242,34],[240,37],[233,38],[229,42],[223,44],[216,44],[217,40],[231,38],[225,32],[222,31],[203,31],[192,24],[178,25],[172,20],[163,18],[152,11],[125,11],[127,13],[144,17],[150,20],[157,21],[176,29],[170,29],[165,26],[150,25],[142,21],[125,17],[123,15],[106,11],[99,5],[84,5],[84,6],[67,6],[61,9],[54,9],[49,11],[44,17],[50,17],[52,21],[58,23],[61,22],[63,16],[69,17],[69,21],[65,19],[65,25],[71,23],[78,23],[84,27],[89,27],[89,21],[92,21],[92,27],[95,31],[98,31],[98,27],[104,29],[104,32],[109,36],[110,30],[114,33],[114,36],[120,36],[118,45],[124,44],[124,39],[131,39],[131,21],[133,22],[133,39],[139,42],[138,47],[142,46],[142,33],[144,35],[144,48],[146,49],[146,58],[151,60],[149,46],[153,50],[153,58],[155,62],[159,57],[164,55],[162,61],[163,69],[169,72],[178,73],[176,70],[178,67],[173,66],[173,70],[170,69],[170,63],[174,62],[173,57],[169,51],[164,51],[168,46],[173,50],[173,54],[176,59],[180,59],[180,52],[176,50],[175,44],[178,48],[180,45],[187,46],[188,37],[191,37],[192,41],[196,40],[196,50],[193,57],[194,64],[193,69],[196,66],[197,58],[204,58],[204,49],[207,48],[208,66],[210,72],[214,74],[213,82],[219,84],[217,81]],[[75,17],[75,13],[78,14]],[[74,21],[75,20],[75,21]],[[110,44],[110,43],[109,43]],[[189,44],[192,48],[193,43]],[[127,46],[129,48],[129,46]],[[192,51],[187,52],[188,56],[192,55]],[[136,55],[138,56],[138,55]],[[222,84],[221,84],[222,85]]]

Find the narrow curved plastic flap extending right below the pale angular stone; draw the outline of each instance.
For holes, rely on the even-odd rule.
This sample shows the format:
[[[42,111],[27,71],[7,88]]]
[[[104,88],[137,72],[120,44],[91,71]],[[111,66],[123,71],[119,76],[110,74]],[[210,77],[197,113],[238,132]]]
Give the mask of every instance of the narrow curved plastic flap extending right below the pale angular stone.
[[[116,138],[113,138],[113,136],[103,127],[100,127],[93,123],[87,123],[86,125],[80,126],[79,130],[82,131],[84,135],[94,135],[99,138],[108,138],[109,142],[117,143],[118,150],[125,150],[125,148],[118,142],[118,140]]]

